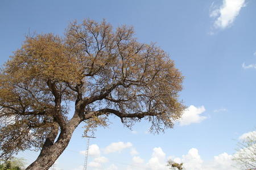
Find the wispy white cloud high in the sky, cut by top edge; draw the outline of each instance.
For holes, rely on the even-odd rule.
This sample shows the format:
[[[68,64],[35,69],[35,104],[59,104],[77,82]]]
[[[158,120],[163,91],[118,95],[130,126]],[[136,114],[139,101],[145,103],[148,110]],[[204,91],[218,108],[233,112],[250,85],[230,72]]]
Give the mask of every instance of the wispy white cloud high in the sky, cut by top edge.
[[[245,0],[223,0],[222,3],[222,6],[210,11],[210,17],[215,19],[214,28],[229,27],[245,6]]]

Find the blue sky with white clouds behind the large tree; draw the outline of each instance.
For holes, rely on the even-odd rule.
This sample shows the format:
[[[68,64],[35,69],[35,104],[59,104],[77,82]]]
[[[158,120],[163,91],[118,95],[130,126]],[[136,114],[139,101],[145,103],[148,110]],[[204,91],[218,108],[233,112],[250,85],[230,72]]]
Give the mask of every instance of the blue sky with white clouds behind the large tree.
[[[256,126],[255,8],[253,0],[2,0],[0,63],[29,32],[63,35],[69,22],[86,18],[133,25],[139,41],[157,42],[185,76],[180,100],[188,110],[174,129],[159,135],[147,133],[147,122],[131,131],[112,117],[109,128],[99,128],[90,141],[88,169],[160,170],[168,158],[192,170],[237,169],[230,167],[236,143]],[[81,135],[80,126],[55,169],[82,169]],[[36,155],[19,154],[28,163]]]

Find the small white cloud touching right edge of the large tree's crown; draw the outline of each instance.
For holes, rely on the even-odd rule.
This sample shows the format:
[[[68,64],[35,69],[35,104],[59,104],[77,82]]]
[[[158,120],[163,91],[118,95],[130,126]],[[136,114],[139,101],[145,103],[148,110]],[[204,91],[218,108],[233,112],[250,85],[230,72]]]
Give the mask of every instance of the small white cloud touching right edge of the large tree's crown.
[[[201,116],[205,112],[204,106],[195,107],[190,105],[187,109],[185,109],[182,117],[180,118],[179,122],[181,126],[190,125],[193,123],[200,123],[201,121],[205,120],[205,116]]]

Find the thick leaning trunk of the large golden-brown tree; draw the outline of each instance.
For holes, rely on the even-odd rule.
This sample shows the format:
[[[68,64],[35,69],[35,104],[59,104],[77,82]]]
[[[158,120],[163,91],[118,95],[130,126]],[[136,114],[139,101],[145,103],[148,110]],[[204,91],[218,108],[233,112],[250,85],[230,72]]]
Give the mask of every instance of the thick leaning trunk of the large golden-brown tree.
[[[52,145],[43,146],[38,158],[32,164],[30,164],[26,170],[47,170],[51,168],[51,166],[68,146],[73,131],[79,124],[80,119],[78,117],[74,119],[72,118],[65,130],[60,132],[57,141],[52,143]]]

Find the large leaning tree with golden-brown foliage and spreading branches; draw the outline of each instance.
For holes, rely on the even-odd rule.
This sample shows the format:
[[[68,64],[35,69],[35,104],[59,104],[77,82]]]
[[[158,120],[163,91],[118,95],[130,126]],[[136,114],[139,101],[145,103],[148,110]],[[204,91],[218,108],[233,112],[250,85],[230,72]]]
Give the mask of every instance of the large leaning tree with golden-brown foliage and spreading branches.
[[[87,133],[111,115],[127,127],[144,118],[158,133],[184,110],[183,76],[168,54],[105,20],[73,22],[64,37],[26,37],[0,76],[1,157],[40,150],[27,169],[51,167],[81,122]]]

